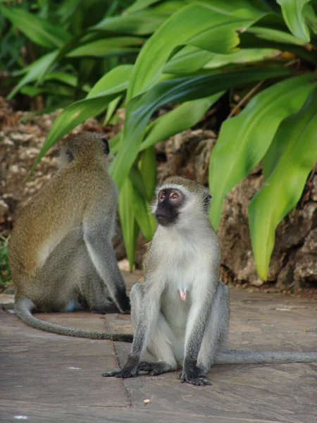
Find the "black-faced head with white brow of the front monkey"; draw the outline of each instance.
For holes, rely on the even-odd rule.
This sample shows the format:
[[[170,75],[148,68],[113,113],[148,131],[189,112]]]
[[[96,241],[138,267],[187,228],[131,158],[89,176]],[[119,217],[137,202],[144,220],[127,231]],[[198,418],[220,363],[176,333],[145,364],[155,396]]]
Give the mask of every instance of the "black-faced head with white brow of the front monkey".
[[[156,189],[152,212],[161,226],[188,224],[192,219],[208,219],[211,195],[196,180],[170,176]]]

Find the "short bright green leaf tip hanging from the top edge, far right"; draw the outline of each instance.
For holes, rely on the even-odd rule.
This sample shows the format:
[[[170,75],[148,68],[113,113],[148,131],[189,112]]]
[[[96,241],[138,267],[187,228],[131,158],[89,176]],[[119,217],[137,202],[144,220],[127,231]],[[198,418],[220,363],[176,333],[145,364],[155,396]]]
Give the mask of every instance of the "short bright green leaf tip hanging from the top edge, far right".
[[[295,37],[308,43],[311,39],[309,28],[305,23],[304,8],[311,0],[276,0],[282,8],[282,15],[290,32]]]

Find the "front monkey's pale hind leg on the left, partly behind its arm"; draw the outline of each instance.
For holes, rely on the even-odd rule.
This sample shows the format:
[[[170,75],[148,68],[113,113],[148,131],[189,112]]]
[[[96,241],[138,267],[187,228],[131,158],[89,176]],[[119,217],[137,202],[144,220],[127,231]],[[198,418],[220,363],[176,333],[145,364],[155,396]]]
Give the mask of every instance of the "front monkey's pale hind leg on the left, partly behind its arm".
[[[139,322],[141,305],[144,302],[144,289],[141,284],[137,283],[132,287],[130,302],[131,320],[133,331],[135,331]],[[176,370],[178,364],[172,350],[173,341],[175,341],[175,336],[165,317],[160,312],[156,329],[151,336],[149,345],[141,355],[142,361],[139,362],[138,372],[149,372],[150,376],[155,376],[156,374]]]

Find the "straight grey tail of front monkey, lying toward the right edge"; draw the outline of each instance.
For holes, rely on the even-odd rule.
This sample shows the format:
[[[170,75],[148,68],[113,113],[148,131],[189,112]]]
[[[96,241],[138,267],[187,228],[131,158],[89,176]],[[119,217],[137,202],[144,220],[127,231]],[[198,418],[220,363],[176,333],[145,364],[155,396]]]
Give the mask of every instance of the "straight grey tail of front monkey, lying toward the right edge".
[[[313,353],[284,353],[275,351],[220,350],[216,364],[297,363],[317,362]]]

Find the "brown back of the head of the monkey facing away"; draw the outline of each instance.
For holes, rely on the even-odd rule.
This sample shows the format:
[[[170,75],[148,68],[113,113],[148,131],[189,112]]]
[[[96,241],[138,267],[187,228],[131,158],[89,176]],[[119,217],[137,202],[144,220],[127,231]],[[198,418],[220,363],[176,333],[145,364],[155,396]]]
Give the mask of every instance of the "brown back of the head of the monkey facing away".
[[[110,152],[109,143],[106,137],[99,133],[85,133],[75,135],[67,140],[66,145],[61,147],[58,158],[59,165],[66,167],[71,161],[85,158],[104,159],[108,163],[108,154]]]

